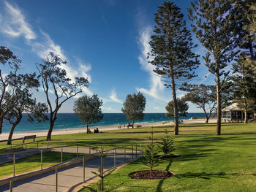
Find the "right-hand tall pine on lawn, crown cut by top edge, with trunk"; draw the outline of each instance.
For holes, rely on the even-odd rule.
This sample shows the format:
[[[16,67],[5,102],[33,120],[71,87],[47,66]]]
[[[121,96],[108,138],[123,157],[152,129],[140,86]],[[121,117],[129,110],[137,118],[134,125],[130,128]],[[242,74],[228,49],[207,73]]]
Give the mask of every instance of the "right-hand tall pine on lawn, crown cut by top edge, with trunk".
[[[225,67],[238,53],[236,14],[233,14],[236,0],[198,0],[188,9],[192,20],[192,31],[207,53],[203,57],[209,72],[215,75],[217,98],[217,135],[221,134],[222,77],[226,77]]]

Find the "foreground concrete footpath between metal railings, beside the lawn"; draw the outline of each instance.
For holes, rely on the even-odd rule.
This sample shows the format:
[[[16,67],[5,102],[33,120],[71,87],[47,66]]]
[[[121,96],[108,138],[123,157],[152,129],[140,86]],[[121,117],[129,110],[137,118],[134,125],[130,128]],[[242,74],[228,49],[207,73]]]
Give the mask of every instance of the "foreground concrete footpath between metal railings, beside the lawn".
[[[139,155],[139,154],[138,154]],[[134,158],[135,154],[134,154]],[[132,153],[127,151],[125,161],[132,160]],[[91,171],[97,171],[100,166],[100,158],[94,158],[86,161],[86,182],[95,175]],[[124,164],[124,153],[118,151],[116,154],[116,166]],[[113,168],[114,155],[108,153],[104,158],[104,171]],[[83,182],[83,163],[75,164],[61,168],[58,171],[58,191],[68,191],[74,185]],[[0,191],[10,191],[10,185],[0,186]],[[16,181],[13,183],[13,192],[28,192],[28,191],[56,191],[56,173],[48,172],[39,174],[35,177]]]

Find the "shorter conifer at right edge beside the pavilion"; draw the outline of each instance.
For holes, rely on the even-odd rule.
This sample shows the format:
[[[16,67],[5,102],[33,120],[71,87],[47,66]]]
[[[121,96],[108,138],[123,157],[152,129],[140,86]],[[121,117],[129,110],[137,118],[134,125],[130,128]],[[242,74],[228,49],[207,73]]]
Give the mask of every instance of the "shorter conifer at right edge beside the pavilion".
[[[230,77],[233,82],[233,101],[244,110],[244,123],[247,123],[248,112],[255,111],[256,82],[245,57],[240,56],[238,61],[233,64],[233,73],[233,76]]]

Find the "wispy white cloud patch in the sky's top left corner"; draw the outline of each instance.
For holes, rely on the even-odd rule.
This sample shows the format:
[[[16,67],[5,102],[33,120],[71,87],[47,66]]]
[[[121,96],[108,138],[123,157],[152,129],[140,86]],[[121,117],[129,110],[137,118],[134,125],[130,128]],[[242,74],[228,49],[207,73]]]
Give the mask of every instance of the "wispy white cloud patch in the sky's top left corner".
[[[4,1],[4,4],[9,17],[5,21],[3,19],[0,20],[4,22],[1,26],[1,32],[11,37],[19,37],[23,35],[28,41],[36,39],[36,34],[31,30],[29,23],[26,23],[25,17],[20,12],[20,9],[12,6],[12,4],[7,1]]]

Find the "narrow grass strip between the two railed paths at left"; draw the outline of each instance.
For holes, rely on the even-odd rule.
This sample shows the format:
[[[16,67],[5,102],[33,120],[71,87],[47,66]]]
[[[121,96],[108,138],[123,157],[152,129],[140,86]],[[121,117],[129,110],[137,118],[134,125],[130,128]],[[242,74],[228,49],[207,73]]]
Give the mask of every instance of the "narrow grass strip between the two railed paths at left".
[[[42,166],[50,166],[61,162],[61,153],[59,152],[44,152]],[[76,153],[63,153],[63,161],[76,157]],[[41,167],[41,154],[32,155],[27,158],[21,158],[15,162],[15,173],[27,172]],[[0,177],[13,174],[13,163],[0,164]],[[1,178],[0,178],[1,179]]]

